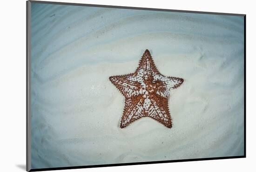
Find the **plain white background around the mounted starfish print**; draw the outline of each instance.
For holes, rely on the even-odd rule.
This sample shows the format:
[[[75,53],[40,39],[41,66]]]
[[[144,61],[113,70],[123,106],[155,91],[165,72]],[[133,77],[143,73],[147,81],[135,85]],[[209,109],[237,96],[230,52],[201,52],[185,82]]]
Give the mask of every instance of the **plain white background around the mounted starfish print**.
[[[58,0],[53,0],[58,1]],[[72,172],[129,172],[129,171],[197,171],[218,172],[253,171],[255,169],[256,114],[254,95],[256,87],[255,67],[255,6],[253,1],[243,0],[59,0],[62,2],[101,5],[149,7],[220,13],[243,13],[246,18],[246,153],[245,159],[224,159],[167,164],[115,166],[76,169]],[[0,58],[0,171],[25,171],[26,166],[26,1],[5,0],[1,2],[1,58]],[[62,170],[65,172],[67,170]]]

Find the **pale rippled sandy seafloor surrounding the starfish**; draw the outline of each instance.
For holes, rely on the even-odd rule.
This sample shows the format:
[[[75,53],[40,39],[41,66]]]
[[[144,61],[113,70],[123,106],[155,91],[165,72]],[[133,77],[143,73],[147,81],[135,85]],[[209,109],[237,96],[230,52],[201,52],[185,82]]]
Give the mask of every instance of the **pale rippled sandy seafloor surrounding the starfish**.
[[[32,3],[32,168],[244,154],[243,17]],[[121,129],[109,76],[149,49],[171,91],[173,127]]]

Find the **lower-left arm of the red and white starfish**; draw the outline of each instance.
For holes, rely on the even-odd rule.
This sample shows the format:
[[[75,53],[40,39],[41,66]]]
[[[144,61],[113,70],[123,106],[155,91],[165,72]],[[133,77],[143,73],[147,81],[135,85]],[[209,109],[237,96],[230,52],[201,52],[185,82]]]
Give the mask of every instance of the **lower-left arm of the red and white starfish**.
[[[125,99],[125,107],[120,121],[121,128],[124,128],[134,122],[136,119],[143,117],[142,102],[142,96]]]

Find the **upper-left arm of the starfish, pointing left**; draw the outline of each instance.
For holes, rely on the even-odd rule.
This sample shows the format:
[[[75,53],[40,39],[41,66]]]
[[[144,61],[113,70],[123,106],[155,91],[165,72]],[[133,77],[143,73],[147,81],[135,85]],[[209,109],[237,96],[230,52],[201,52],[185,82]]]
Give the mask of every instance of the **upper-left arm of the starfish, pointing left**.
[[[131,75],[132,74],[109,77],[112,84],[114,84],[125,97],[139,95],[141,88],[141,84],[134,81]]]

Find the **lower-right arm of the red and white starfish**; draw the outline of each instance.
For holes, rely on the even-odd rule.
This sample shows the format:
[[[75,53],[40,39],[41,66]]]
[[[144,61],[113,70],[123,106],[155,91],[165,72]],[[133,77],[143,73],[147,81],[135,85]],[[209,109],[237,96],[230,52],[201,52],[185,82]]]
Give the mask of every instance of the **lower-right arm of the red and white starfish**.
[[[157,120],[168,128],[172,127],[167,98],[163,98],[161,96],[151,96],[151,105],[149,106],[147,112],[148,117]]]

